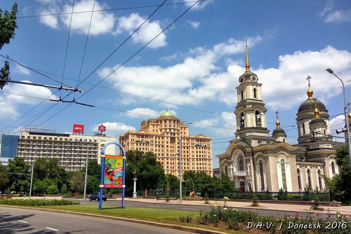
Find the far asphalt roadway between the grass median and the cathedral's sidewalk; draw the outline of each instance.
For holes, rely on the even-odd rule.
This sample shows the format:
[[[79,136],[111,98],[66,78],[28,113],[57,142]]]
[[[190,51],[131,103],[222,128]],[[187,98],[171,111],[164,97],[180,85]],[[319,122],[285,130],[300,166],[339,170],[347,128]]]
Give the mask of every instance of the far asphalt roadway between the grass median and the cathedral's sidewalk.
[[[88,205],[99,205],[99,202],[96,201],[88,201],[88,200],[82,200],[80,201],[81,204],[88,204]],[[164,202],[159,202],[159,203],[145,203],[145,202],[135,202],[135,201],[130,201],[128,199],[125,199],[125,206],[134,206],[134,207],[146,207],[146,208],[155,208],[155,209],[177,209],[177,210],[190,210],[190,211],[198,211],[202,209],[204,212],[208,212],[211,210],[210,206],[189,206],[189,205],[180,205],[180,204],[167,204]],[[102,202],[102,208],[104,208],[104,205],[112,205],[112,206],[121,206],[121,200],[107,200]],[[269,205],[269,204],[267,204]],[[272,211],[272,210],[260,210],[260,209],[255,209],[253,207],[250,207],[250,203],[247,203],[248,207],[245,208],[238,208],[238,210],[243,210],[243,211],[248,211],[249,209],[256,210],[256,212],[259,215],[264,215],[264,216],[275,216],[275,217],[283,217],[284,214],[289,215],[289,216],[294,216],[295,211]],[[316,214],[311,214],[311,215],[316,215]],[[300,213],[299,217],[300,218],[305,218],[307,216],[306,213]],[[320,214],[322,218],[326,218],[327,215],[325,214]]]

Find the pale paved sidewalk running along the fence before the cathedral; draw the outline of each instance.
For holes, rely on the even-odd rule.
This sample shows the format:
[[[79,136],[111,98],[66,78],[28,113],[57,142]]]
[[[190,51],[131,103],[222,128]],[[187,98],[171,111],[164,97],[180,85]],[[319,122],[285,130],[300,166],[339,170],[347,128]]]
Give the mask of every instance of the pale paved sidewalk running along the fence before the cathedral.
[[[204,204],[203,201],[187,201],[183,200],[182,204],[178,201],[169,201],[165,200],[156,201],[156,199],[128,199],[127,201],[136,201],[136,202],[145,202],[145,203],[167,203],[167,204],[178,204],[178,205],[191,205],[191,206],[212,206],[215,201],[210,201],[210,204]],[[223,201],[219,201],[219,203],[223,204]],[[309,209],[311,206],[306,205],[289,205],[289,204],[276,204],[276,203],[260,203],[259,207],[252,207],[251,202],[240,202],[240,201],[227,201],[227,205],[233,208],[241,208],[241,209],[263,209],[263,210],[273,210],[273,211],[298,211],[298,212],[310,212]],[[340,207],[332,207],[332,206],[322,206],[325,210],[316,211],[313,210],[312,213],[321,213],[326,214],[328,208],[330,209],[331,214],[336,214],[337,210],[340,210],[342,214],[351,214],[351,206],[340,206]]]

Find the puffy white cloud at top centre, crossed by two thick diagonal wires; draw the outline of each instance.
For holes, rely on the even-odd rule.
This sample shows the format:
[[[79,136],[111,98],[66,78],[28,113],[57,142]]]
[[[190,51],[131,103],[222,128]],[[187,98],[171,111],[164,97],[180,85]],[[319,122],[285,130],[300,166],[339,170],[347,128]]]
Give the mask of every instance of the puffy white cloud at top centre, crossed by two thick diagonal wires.
[[[116,33],[122,33],[127,31],[128,33],[133,33],[135,29],[137,29],[146,18],[139,16],[139,13],[132,13],[129,16],[121,16],[118,21],[117,31]],[[151,41],[155,36],[157,36],[160,32],[162,32],[160,22],[149,20],[145,22],[143,26],[141,26],[137,32],[135,32],[132,36],[133,43],[143,43],[146,44]],[[155,40],[153,40],[148,47],[150,48],[158,48],[167,45],[166,42],[166,34],[161,33]]]

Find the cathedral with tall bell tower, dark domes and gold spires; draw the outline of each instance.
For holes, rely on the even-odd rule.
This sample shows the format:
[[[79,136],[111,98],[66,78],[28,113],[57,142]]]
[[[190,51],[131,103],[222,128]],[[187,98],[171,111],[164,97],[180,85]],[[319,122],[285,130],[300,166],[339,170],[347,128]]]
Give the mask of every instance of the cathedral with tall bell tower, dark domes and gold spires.
[[[247,45],[245,68],[236,87],[236,139],[230,141],[224,154],[216,155],[220,171],[235,181],[239,191],[325,189],[322,175],[332,178],[339,173],[335,148],[340,143],[332,141],[328,110],[313,97],[310,76],[307,99],[296,114],[298,143],[290,145],[280,127],[278,111],[277,127],[269,134],[262,84],[250,71]]]

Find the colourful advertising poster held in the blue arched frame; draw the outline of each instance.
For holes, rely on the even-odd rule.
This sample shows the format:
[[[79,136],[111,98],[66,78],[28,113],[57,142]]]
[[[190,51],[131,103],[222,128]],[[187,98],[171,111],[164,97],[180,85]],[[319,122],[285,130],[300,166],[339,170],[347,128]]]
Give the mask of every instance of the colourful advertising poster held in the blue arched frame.
[[[104,188],[122,188],[123,156],[105,155]]]

